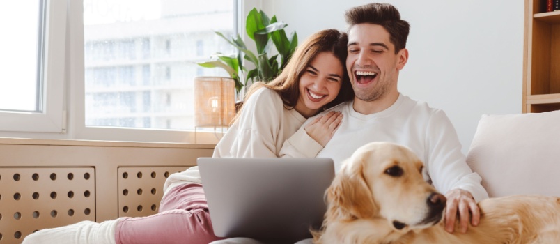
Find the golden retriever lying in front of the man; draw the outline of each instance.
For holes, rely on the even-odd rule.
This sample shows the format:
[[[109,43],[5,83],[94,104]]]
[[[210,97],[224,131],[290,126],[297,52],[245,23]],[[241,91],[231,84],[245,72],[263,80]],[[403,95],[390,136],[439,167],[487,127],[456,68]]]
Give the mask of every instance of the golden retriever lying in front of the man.
[[[442,221],[446,198],[424,181],[422,167],[404,146],[373,142],[359,148],[325,193],[327,213],[313,242],[560,243],[559,197],[485,199],[479,225],[450,234]]]

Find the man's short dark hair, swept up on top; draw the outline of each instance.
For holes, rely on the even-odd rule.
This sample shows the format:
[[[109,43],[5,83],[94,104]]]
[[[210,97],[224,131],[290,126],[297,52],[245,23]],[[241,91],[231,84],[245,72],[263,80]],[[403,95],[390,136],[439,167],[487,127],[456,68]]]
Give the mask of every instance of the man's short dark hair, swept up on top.
[[[395,46],[395,54],[406,47],[410,24],[400,20],[398,9],[389,3],[369,3],[350,8],[345,17],[348,33],[356,24],[379,24],[389,32],[391,43]]]

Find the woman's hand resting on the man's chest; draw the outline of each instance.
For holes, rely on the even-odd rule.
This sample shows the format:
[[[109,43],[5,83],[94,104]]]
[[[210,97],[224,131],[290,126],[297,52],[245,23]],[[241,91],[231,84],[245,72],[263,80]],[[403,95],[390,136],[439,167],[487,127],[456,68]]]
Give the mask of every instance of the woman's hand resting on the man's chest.
[[[316,140],[321,146],[325,147],[339,128],[342,122],[341,112],[328,112],[327,114],[313,119],[311,123],[305,125],[304,130],[311,138]]]

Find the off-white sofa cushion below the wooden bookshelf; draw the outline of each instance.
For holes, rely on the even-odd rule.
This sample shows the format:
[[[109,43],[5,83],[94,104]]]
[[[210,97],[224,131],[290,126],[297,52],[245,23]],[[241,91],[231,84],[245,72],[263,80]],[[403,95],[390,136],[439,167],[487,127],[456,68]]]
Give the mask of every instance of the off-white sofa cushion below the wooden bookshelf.
[[[467,163],[490,197],[560,196],[560,111],[483,116]]]

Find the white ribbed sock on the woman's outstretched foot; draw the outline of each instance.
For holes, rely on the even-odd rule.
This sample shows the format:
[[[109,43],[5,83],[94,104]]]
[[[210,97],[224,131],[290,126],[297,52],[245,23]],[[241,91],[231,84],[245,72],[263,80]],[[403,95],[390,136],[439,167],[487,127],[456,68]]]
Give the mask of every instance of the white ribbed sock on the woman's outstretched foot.
[[[120,219],[104,222],[82,221],[26,236],[22,244],[116,244],[115,229]]]

